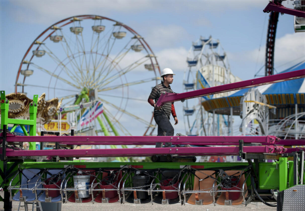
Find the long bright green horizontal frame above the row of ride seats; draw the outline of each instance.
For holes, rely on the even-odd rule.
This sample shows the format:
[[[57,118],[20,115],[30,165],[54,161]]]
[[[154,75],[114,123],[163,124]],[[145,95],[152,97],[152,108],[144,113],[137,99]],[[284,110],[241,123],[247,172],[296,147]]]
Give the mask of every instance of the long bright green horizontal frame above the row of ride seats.
[[[287,163],[288,162],[288,163]],[[8,162],[7,167],[13,165]],[[75,165],[78,168],[99,169],[99,168],[121,168],[124,165],[131,165],[137,169],[182,169],[184,166],[194,166],[195,168],[221,168],[234,166],[248,166],[246,162],[35,162],[28,161],[20,163],[24,168],[48,168],[64,169],[68,165]],[[289,165],[289,168],[288,168]],[[1,166],[2,168],[2,166]],[[17,170],[17,167],[13,171]],[[289,177],[287,176],[289,174]],[[287,158],[280,158],[279,162],[260,162],[259,163],[259,189],[285,190],[293,184],[293,161],[287,161]],[[1,179],[0,179],[1,180]],[[305,180],[304,180],[305,181]],[[287,183],[289,182],[289,184]],[[250,185],[250,178],[247,180]]]

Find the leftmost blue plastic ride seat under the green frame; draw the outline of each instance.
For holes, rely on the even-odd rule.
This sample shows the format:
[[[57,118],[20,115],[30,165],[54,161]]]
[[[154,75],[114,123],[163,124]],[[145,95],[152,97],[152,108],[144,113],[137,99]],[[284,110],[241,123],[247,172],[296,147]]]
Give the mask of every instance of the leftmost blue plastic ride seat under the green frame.
[[[40,169],[23,169],[22,176],[21,176],[21,186],[20,189],[22,190],[22,196],[25,197],[26,202],[32,202],[36,199],[35,193],[31,190],[23,190],[23,188],[33,188],[35,187],[36,182],[41,182],[39,176],[35,176],[38,174]],[[41,188],[42,185],[40,184],[37,188]],[[37,191],[37,195],[40,194],[41,191]],[[13,196],[13,200],[20,201],[20,191]]]

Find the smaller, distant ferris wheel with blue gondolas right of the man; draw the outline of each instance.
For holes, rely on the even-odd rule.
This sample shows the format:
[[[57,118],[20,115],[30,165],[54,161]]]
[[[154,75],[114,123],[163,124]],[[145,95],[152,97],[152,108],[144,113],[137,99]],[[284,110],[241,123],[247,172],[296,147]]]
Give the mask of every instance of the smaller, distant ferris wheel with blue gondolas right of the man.
[[[231,75],[227,54],[219,40],[201,37],[192,43],[187,56],[188,68],[184,73],[185,91],[204,89],[211,86],[235,82]],[[185,130],[187,135],[212,136],[224,134],[222,124],[227,121],[221,115],[213,121],[212,114],[202,107],[204,100],[227,96],[219,93],[201,98],[186,100],[183,107]],[[214,126],[212,124],[214,122]],[[214,128],[214,129],[213,129]],[[217,133],[215,128],[217,128]]]

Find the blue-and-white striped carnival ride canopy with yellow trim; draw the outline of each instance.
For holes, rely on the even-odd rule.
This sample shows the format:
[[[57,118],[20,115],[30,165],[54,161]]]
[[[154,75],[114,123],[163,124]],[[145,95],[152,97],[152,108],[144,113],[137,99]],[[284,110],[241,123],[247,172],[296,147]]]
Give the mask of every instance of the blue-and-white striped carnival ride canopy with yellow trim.
[[[302,69],[305,69],[305,60],[280,73]],[[216,114],[223,115],[230,115],[230,108],[233,107],[233,115],[239,115],[240,99],[249,89],[241,89],[227,97],[206,100],[202,105],[206,111],[214,110]],[[305,111],[305,78],[258,86],[257,89],[266,96],[267,104],[277,107],[275,116],[277,119],[294,114],[296,104],[298,113]]]

